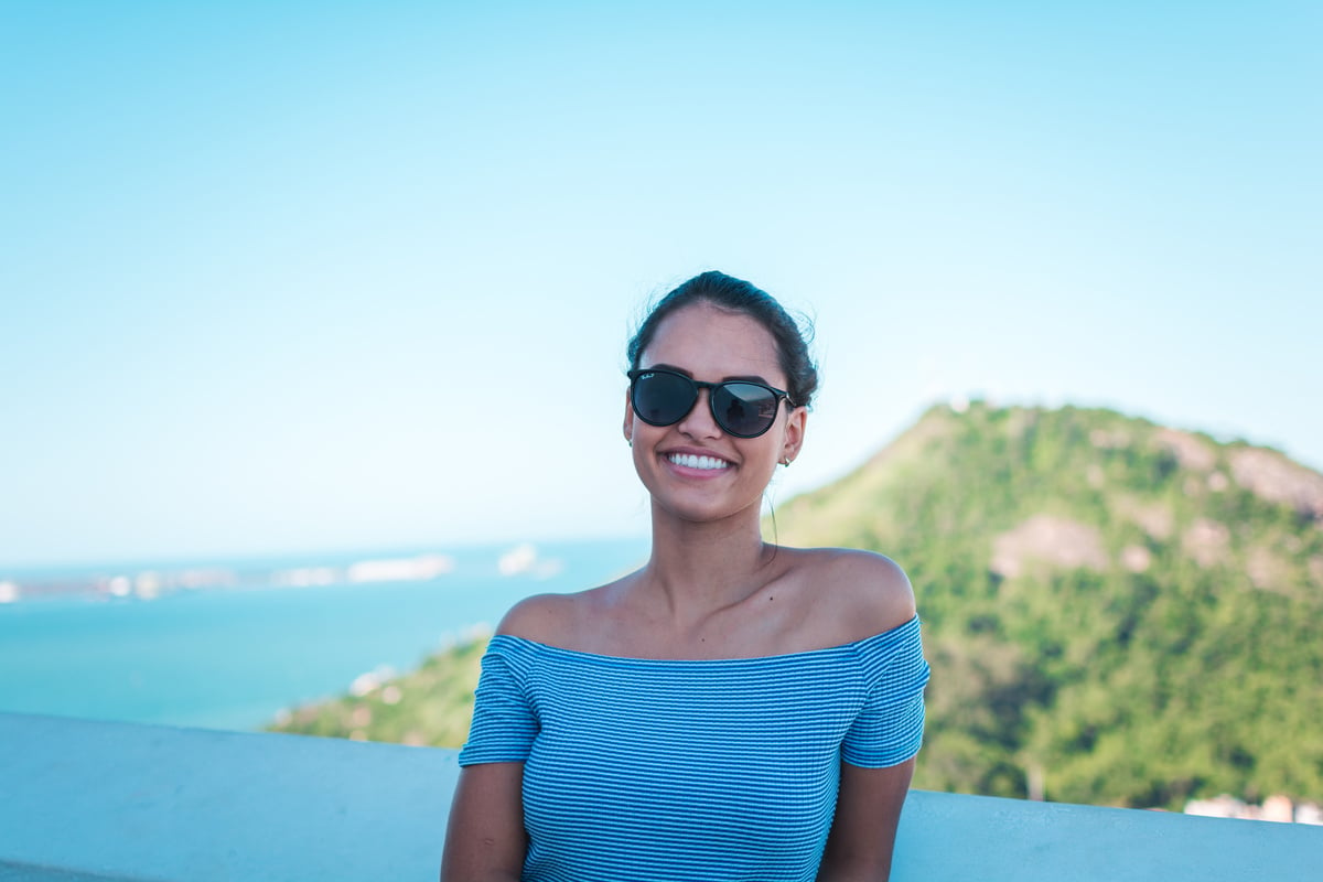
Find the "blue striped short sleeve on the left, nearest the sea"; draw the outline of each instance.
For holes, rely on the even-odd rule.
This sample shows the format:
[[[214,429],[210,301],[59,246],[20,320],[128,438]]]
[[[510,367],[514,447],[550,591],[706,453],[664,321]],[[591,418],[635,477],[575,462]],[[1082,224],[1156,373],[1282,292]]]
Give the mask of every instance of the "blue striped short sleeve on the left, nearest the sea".
[[[515,648],[500,636],[492,637],[483,656],[483,673],[478,680],[468,741],[459,751],[460,766],[520,763],[528,759],[538,723],[520,682],[520,673],[521,665]]]

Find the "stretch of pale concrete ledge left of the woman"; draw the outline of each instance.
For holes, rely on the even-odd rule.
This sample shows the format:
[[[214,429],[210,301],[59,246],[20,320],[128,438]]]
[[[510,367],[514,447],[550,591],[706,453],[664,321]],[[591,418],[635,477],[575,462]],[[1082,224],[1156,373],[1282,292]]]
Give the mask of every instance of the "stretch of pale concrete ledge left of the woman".
[[[0,715],[0,751],[7,881],[435,879],[459,774],[452,751],[54,717]]]

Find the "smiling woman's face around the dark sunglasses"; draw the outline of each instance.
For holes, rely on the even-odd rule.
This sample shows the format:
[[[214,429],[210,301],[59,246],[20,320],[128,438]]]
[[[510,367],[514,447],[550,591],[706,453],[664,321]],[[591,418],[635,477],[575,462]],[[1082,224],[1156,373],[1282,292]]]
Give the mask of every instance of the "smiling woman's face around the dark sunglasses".
[[[696,303],[667,316],[639,357],[639,368],[668,368],[693,380],[757,380],[786,387],[777,344],[755,319]],[[708,390],[680,422],[650,426],[626,399],[624,436],[634,467],[655,506],[691,521],[713,521],[757,510],[777,463],[794,459],[806,411],[782,401],[777,421],[758,438],[729,435],[712,418]]]

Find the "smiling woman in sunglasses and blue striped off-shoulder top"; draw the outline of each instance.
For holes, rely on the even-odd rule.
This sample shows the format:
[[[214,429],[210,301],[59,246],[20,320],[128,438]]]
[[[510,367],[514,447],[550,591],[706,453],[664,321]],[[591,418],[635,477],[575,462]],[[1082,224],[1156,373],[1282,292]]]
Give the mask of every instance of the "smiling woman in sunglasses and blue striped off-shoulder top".
[[[896,563],[762,540],[818,385],[803,336],[705,272],[628,357],[651,558],[501,621],[442,879],[886,879],[927,665]]]

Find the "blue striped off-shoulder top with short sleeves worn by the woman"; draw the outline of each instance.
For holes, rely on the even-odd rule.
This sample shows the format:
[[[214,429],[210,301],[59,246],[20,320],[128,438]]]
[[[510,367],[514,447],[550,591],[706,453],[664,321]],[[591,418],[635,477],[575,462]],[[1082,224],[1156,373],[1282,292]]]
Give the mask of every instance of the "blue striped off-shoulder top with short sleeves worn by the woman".
[[[857,643],[673,661],[497,635],[460,766],[524,763],[524,879],[811,881],[840,762],[923,737],[914,618]]]

